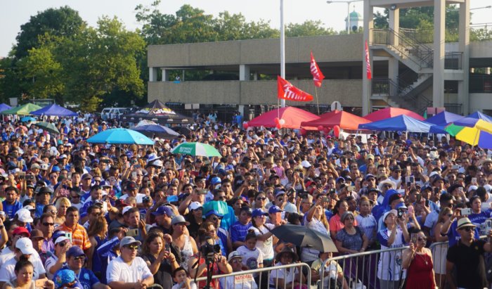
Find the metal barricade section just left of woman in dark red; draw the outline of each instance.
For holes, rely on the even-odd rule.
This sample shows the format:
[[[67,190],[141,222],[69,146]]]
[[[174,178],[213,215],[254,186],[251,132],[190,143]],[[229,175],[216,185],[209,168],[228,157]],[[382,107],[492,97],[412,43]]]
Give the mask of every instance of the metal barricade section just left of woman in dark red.
[[[406,247],[374,250],[328,258],[320,269],[318,289],[399,288],[406,272],[401,267]],[[393,287],[396,286],[396,287]]]

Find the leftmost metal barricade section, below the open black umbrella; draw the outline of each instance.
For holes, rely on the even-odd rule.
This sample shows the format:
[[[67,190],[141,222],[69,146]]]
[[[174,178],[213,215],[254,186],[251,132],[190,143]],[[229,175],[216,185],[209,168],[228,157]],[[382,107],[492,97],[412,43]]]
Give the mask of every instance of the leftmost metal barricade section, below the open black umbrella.
[[[303,270],[304,269],[304,270]],[[306,275],[304,276],[304,273]],[[297,278],[299,276],[299,278]],[[311,284],[311,268],[306,263],[294,263],[288,265],[271,266],[266,268],[258,268],[247,271],[233,272],[231,274],[214,275],[212,280],[219,282],[223,289],[294,289],[292,280],[309,288]],[[287,282],[285,282],[287,280]],[[196,282],[206,282],[207,277],[200,277]],[[232,283],[232,285],[231,285]],[[254,286],[253,283],[256,285]],[[287,283],[292,283],[287,285]]]

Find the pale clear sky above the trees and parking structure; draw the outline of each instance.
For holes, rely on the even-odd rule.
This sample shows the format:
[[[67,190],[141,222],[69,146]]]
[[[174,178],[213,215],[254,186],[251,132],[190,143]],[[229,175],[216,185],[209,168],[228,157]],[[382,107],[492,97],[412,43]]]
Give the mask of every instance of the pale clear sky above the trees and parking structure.
[[[18,0],[4,1],[0,9],[0,56],[7,56],[15,37],[20,32],[20,25],[29,21],[32,15],[47,8],[70,6],[79,11],[79,15],[89,25],[96,26],[102,15],[116,15],[128,30],[135,30],[140,25],[135,20],[135,7],[138,4],[150,6],[153,0]],[[397,2],[397,1],[396,1]],[[183,4],[201,8],[207,14],[219,15],[222,11],[242,13],[247,21],[260,19],[270,21],[272,27],[280,27],[280,0],[162,0],[162,13],[174,14]],[[491,0],[471,0],[470,7],[477,8],[491,5]],[[351,10],[363,13],[363,2],[350,4]],[[347,4],[327,4],[325,0],[284,0],[285,23],[303,23],[305,20],[321,20],[325,27],[336,31],[344,30],[344,19],[347,17]],[[477,9],[472,11],[472,23],[488,23],[487,16],[492,9]]]

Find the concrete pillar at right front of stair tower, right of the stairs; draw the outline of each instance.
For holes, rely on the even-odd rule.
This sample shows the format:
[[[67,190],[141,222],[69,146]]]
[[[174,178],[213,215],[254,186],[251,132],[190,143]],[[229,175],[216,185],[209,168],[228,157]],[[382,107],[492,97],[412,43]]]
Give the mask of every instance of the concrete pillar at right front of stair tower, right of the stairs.
[[[446,0],[434,0],[434,78],[432,80],[432,105],[444,107],[444,25]]]

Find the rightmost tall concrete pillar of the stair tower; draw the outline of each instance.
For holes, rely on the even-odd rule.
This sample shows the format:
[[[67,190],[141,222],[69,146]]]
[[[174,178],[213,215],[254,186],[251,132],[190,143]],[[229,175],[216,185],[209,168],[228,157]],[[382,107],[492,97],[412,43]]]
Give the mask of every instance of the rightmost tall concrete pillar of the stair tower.
[[[459,51],[462,52],[463,80],[458,82],[458,103],[462,103],[463,115],[470,113],[470,0],[460,4]]]

